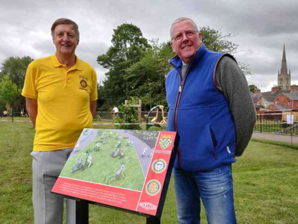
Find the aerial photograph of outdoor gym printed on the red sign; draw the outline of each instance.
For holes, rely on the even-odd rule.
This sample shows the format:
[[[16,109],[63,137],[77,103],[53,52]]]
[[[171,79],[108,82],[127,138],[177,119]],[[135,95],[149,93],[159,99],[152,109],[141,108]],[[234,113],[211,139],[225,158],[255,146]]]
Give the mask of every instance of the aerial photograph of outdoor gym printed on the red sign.
[[[84,129],[60,177],[141,191],[158,134]]]

